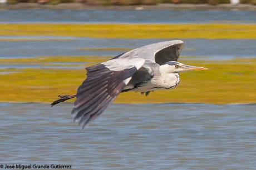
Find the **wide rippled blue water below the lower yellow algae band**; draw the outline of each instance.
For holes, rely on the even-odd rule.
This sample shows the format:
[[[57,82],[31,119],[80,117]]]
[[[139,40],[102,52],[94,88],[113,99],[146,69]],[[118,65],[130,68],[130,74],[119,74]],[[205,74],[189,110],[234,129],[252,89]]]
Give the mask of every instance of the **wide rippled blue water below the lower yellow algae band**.
[[[0,104],[0,160],[75,169],[255,169],[256,105],[113,104],[82,130],[72,104]]]

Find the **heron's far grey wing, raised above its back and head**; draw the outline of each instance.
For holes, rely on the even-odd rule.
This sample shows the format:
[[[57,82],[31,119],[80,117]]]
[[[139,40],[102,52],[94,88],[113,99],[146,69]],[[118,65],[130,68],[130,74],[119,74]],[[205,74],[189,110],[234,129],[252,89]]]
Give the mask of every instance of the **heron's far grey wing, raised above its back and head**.
[[[169,61],[177,61],[183,48],[183,44],[184,43],[181,40],[149,44],[147,46],[133,49],[124,54],[120,54],[115,58],[126,58],[133,56],[134,58],[144,58],[146,59],[146,62],[158,63],[162,65]]]

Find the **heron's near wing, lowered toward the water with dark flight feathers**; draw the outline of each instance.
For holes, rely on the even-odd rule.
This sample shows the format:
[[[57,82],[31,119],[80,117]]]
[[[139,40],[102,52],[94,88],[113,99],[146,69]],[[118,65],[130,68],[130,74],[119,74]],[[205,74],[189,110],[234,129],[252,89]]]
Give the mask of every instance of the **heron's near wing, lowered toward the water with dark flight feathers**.
[[[87,78],[77,90],[72,110],[83,128],[99,116],[144,64],[143,58],[116,58],[87,67]]]

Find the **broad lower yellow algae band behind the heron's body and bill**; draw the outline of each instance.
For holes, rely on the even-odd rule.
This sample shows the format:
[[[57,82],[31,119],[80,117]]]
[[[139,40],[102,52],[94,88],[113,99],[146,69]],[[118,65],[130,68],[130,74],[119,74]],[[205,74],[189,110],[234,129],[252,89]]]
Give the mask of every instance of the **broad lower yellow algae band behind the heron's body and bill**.
[[[72,58],[70,58],[72,60]],[[68,59],[66,62],[69,62]],[[209,68],[181,73],[178,87],[140,93],[120,94],[116,103],[256,103],[256,59],[181,62]],[[75,94],[85,79],[84,69],[0,69],[0,102],[52,102],[59,94]]]

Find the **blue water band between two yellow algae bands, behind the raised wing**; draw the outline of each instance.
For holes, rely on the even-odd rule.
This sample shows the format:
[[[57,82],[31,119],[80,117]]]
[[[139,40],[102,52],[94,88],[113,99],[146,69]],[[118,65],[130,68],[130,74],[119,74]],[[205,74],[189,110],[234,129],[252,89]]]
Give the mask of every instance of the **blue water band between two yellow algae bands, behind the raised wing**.
[[[8,38],[8,36],[0,36]],[[11,37],[12,38],[12,37]],[[23,38],[17,36],[16,38]],[[33,37],[32,37],[33,38]],[[49,38],[49,37],[35,37]],[[55,37],[53,37],[55,38]],[[61,38],[61,37],[60,37]],[[137,48],[146,44],[171,39],[108,39],[64,37],[62,41],[0,41],[1,57],[37,56],[116,56],[124,50],[107,48]],[[71,38],[71,37],[70,37]],[[177,38],[179,39],[179,38]],[[181,56],[195,59],[231,59],[234,57],[255,57],[255,39],[182,39],[185,43]],[[13,48],[15,47],[15,51]],[[31,48],[33,47],[33,48]],[[105,48],[106,50],[81,50],[81,48]],[[193,59],[190,58],[190,59]]]

